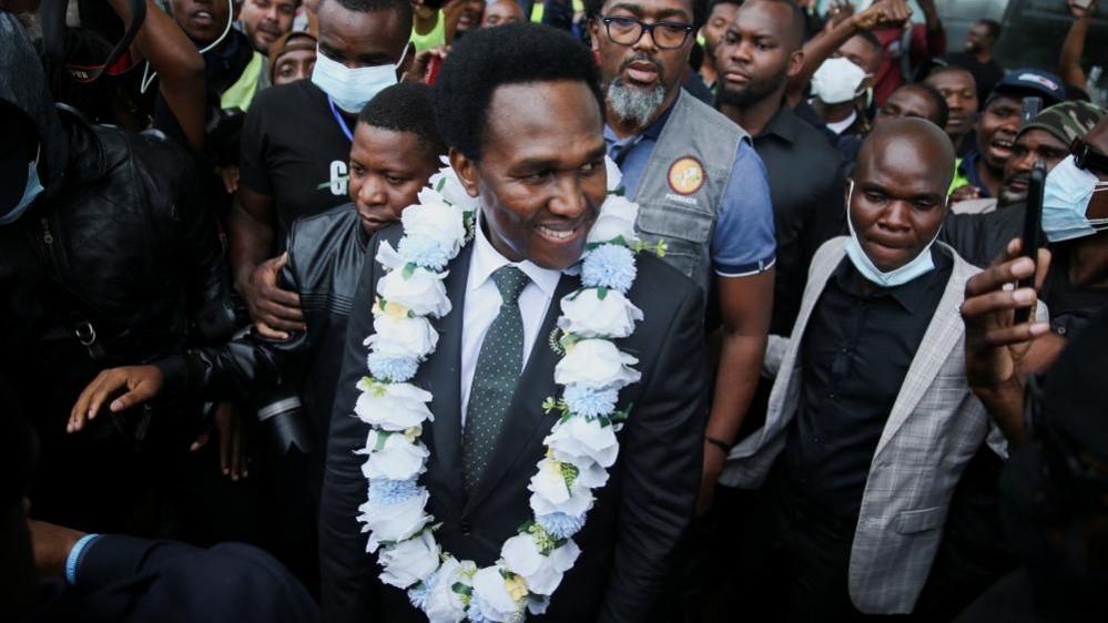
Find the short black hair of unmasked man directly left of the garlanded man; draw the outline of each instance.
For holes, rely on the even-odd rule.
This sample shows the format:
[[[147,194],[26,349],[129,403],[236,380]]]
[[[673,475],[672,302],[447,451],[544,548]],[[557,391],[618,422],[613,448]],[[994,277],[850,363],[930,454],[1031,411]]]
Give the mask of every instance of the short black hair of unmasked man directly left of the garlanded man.
[[[358,123],[415,134],[419,147],[436,161],[446,153],[446,142],[435,122],[431,88],[421,82],[401,82],[384,89],[358,113]]]

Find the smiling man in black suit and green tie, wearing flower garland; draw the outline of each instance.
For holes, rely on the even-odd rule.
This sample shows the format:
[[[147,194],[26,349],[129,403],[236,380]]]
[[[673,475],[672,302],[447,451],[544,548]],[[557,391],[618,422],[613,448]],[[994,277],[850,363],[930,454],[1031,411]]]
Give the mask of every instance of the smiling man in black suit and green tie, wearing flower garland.
[[[501,544],[530,520],[528,482],[543,458],[543,438],[558,416],[542,409],[558,396],[548,343],[561,298],[580,287],[562,270],[576,264],[607,194],[603,100],[585,48],[569,35],[510,24],[466,37],[436,83],[439,127],[466,193],[479,203],[475,241],[446,267],[453,312],[434,323],[438,345],[410,381],[434,396],[423,431],[430,451],[419,483],[427,511],[441,523],[435,539],[459,560],[497,562]],[[368,257],[399,227],[379,232]],[[500,295],[495,273],[526,275],[516,305]],[[363,459],[368,427],[352,416],[356,384],[367,375],[363,340],[374,333],[370,305],[384,268],[367,262],[350,316],[332,417],[321,514],[324,617],[365,621],[379,600],[383,621],[420,621],[400,590],[383,586],[356,518],[366,501]],[[494,284],[492,282],[497,283]],[[619,432],[618,461],[585,528],[581,553],[550,601],[546,621],[643,621],[665,591],[673,550],[693,512],[700,482],[705,371],[699,288],[655,257],[641,254],[628,298],[643,313],[620,350],[639,359],[641,381],[619,394],[633,404]],[[504,302],[504,303],[502,303]],[[482,396],[478,351],[496,333],[492,316],[518,306],[522,359],[509,386],[502,427],[488,461],[471,477],[469,405]],[[501,312],[498,312],[500,309]],[[484,334],[484,335],[482,335]],[[515,355],[518,356],[518,353]],[[523,364],[526,362],[526,365]],[[470,391],[471,389],[471,391]]]

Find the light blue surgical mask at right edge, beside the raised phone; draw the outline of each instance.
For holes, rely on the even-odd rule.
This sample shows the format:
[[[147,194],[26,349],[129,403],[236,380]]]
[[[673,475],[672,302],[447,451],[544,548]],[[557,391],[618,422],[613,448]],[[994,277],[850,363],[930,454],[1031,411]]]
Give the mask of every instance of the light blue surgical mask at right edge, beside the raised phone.
[[[1073,155],[1055,165],[1043,188],[1043,233],[1047,239],[1060,243],[1108,229],[1108,218],[1085,216],[1092,194],[1106,188],[1108,182],[1078,168]]]

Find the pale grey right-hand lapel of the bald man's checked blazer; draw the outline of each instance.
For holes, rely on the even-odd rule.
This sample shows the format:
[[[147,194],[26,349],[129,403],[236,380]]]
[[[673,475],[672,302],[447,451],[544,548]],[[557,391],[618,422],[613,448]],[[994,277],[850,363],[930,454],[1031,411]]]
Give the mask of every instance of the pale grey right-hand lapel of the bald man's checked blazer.
[[[965,298],[968,273],[962,259],[953,252],[951,253],[954,255],[954,269],[946,283],[946,290],[943,292],[943,298],[939,299],[935,315],[932,317],[931,324],[927,325],[916,356],[912,359],[912,365],[908,366],[908,374],[904,377],[904,385],[901,386],[901,392],[896,396],[896,402],[893,404],[893,410],[881,433],[881,441],[877,442],[874,458],[881,453],[896,435],[896,431],[904,426],[908,416],[915,411],[919,400],[934,382],[935,376],[938,375],[938,370],[949,358],[951,351],[957,347],[965,329],[958,306]],[[922,415],[926,416],[926,413]]]

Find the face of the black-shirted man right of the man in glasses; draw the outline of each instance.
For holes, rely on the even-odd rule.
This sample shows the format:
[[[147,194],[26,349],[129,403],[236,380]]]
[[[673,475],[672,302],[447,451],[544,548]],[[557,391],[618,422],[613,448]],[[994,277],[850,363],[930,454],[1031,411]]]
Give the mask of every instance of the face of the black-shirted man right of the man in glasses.
[[[721,103],[743,108],[777,92],[803,61],[789,35],[791,12],[779,2],[748,2],[715,51]]]

